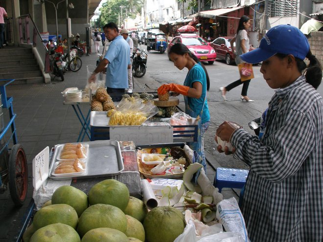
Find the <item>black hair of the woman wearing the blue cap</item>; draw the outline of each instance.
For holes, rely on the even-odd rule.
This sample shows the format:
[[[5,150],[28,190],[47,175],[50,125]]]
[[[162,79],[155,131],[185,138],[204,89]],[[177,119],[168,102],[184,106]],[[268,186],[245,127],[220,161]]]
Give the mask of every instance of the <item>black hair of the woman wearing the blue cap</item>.
[[[283,59],[288,55],[277,53],[276,56]],[[317,89],[322,82],[322,66],[311,50],[308,51],[306,58],[310,61],[308,66],[306,66],[303,60],[295,57],[297,68],[305,76],[306,82]]]

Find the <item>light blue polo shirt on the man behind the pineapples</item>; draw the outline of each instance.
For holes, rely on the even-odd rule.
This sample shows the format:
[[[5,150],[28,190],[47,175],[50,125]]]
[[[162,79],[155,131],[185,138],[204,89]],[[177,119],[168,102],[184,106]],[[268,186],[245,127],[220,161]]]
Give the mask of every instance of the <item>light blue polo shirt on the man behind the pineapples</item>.
[[[104,58],[109,61],[106,73],[106,86],[109,88],[128,88],[128,65],[130,46],[122,36],[111,42]]]

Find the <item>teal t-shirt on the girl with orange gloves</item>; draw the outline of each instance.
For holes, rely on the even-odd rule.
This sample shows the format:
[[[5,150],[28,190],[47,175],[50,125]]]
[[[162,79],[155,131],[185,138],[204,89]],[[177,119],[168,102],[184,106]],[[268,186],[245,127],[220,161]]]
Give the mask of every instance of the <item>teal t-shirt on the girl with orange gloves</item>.
[[[197,114],[200,115],[205,99],[205,105],[202,113],[202,123],[210,121],[210,113],[208,110],[207,96],[207,75],[200,63],[197,63],[191,68],[185,78],[184,85],[192,88],[194,82],[202,84],[202,95],[200,98],[187,97],[189,107]],[[187,110],[186,110],[187,112]]]

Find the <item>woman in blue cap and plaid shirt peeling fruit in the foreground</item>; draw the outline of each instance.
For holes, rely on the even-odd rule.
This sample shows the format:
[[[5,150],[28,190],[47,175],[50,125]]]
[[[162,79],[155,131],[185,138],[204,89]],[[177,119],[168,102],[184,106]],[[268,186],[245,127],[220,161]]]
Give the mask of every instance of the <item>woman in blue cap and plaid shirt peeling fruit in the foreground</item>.
[[[250,166],[242,204],[249,238],[322,241],[323,99],[316,91],[322,68],[304,34],[287,24],[270,29],[259,48],[241,59],[262,61],[260,72],[276,89],[260,140],[229,122],[216,131],[231,142],[234,157]]]

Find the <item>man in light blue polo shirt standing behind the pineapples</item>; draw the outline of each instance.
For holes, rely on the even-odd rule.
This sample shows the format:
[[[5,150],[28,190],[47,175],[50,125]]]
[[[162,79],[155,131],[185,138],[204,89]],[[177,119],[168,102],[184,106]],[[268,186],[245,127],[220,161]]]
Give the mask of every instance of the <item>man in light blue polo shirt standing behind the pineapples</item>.
[[[104,71],[106,68],[106,86],[108,93],[124,93],[128,88],[128,68],[131,68],[130,46],[119,35],[119,29],[114,22],[110,22],[103,27],[104,33],[111,44],[104,59],[95,68],[89,78],[89,82],[95,81],[95,74]],[[114,101],[120,101],[121,95],[113,98]]]

